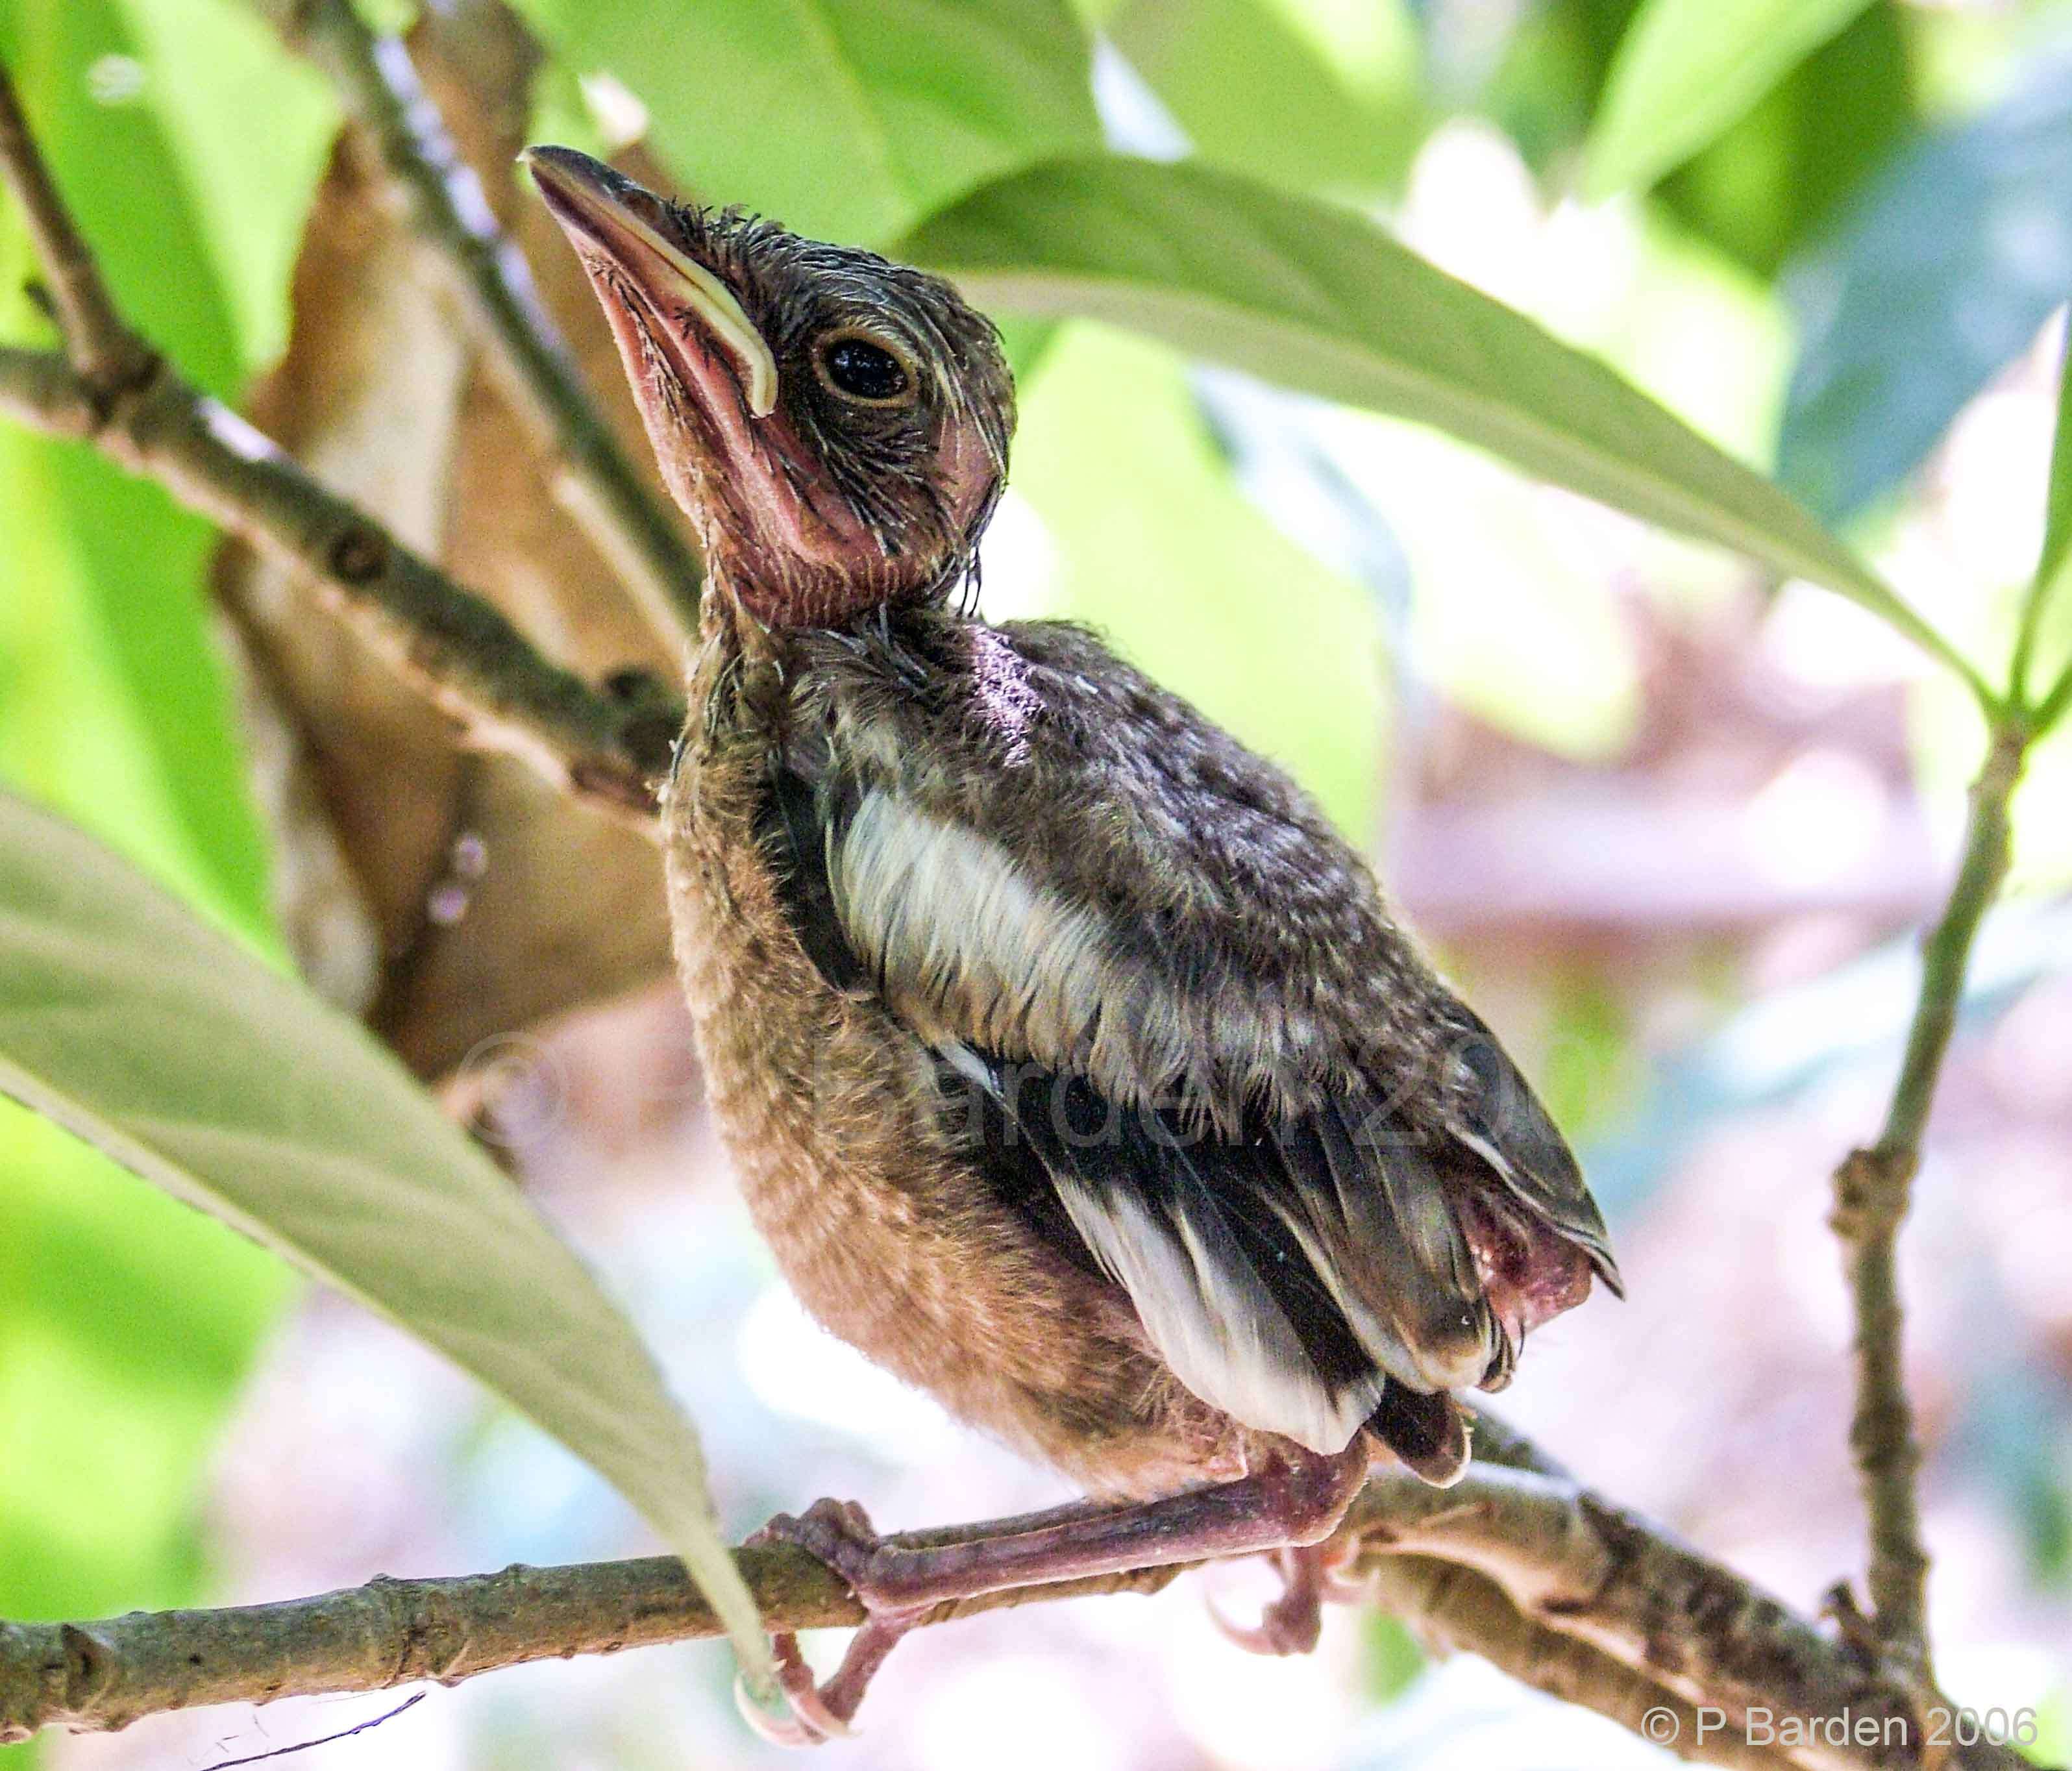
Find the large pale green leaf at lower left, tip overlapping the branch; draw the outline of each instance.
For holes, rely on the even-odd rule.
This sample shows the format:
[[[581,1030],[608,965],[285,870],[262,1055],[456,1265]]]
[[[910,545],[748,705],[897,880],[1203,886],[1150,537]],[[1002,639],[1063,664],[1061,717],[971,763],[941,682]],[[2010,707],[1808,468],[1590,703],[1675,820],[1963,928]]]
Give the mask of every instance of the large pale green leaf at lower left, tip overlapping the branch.
[[[696,1433],[588,1270],[363,1027],[12,795],[0,1092],[530,1415],[663,1533],[771,1688]]]

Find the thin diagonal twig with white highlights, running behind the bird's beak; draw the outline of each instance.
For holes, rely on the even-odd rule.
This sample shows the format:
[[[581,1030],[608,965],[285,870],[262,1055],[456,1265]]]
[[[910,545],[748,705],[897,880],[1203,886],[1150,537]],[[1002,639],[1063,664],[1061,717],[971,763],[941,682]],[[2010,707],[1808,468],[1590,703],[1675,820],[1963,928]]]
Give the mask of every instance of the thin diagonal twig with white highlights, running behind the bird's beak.
[[[514,404],[559,452],[570,514],[663,636],[698,630],[702,574],[675,522],[649,493],[582,383],[533,286],[524,255],[497,226],[398,37],[373,33],[352,0],[257,0],[290,46],[338,87],[381,149],[419,232],[454,269],[468,321],[503,371]]]

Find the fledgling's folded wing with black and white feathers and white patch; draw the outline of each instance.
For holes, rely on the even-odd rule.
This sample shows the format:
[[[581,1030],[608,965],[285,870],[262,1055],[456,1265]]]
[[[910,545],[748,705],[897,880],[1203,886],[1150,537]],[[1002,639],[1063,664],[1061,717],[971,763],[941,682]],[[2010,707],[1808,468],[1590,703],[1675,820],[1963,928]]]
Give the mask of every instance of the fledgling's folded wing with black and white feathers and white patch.
[[[1156,942],[891,787],[775,762],[762,839],[823,978],[932,1048],[982,1172],[1127,1290],[1189,1390],[1314,1450],[1378,1423],[1459,1469],[1442,1392],[1500,1342],[1450,1203],[1471,1152],[1426,1148],[1357,1073],[1220,1121],[1119,1081],[1104,1023],[1177,1013]]]

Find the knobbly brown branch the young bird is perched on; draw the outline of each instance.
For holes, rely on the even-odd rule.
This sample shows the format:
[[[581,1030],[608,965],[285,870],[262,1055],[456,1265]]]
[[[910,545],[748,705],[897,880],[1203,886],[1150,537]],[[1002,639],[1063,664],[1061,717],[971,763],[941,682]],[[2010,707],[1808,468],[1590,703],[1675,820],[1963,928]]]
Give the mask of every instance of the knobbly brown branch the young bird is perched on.
[[[1523,1442],[1517,1442],[1523,1444]],[[1527,1448],[1529,1452],[1529,1448]],[[1929,1763],[1915,1686],[1823,1634],[1738,1574],[1573,1481],[1502,1464],[1455,1489],[1376,1475],[1347,1518],[1357,1570],[1430,1641],[1484,1653],[1517,1678],[1598,1709],[1691,1757],[1803,1771]],[[926,1533],[912,1533],[920,1541]],[[841,1578],[800,1549],[736,1551],[777,1630],[862,1622]],[[1007,1605],[1148,1593],[1177,1568],[988,1593],[930,1624]],[[506,1568],[445,1580],[371,1580],[344,1593],[220,1612],[131,1614],[93,1624],[0,1624],[0,1740],[35,1730],[124,1728],[141,1715],[315,1692],[458,1684],[495,1667],[719,1634],[667,1558]],[[1711,1736],[1697,1734],[1697,1711]],[[1871,1719],[1877,1740],[1765,1750],[1751,1709]],[[1649,1711],[1680,1728],[1670,1740]],[[1964,1767],[2016,1767],[1993,1746]]]

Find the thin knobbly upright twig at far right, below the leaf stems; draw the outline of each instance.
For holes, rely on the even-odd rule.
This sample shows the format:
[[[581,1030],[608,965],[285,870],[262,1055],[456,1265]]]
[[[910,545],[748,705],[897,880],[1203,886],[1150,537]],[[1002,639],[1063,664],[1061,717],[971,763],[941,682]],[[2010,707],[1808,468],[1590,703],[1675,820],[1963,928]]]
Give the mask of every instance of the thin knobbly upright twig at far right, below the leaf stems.
[[[1927,1570],[1915,1477],[1921,1446],[1902,1369],[1900,1293],[1894,1245],[1906,1220],[1921,1137],[1935,1100],[1964,994],[1970,945],[2008,868],[2008,800],[2022,775],[2026,729],[2010,725],[1987,752],[1970,789],[1964,858],[1941,920],[1923,949],[1906,1056],[1877,1143],[1852,1150],[1834,1174],[1830,1224],[1857,1311],[1857,1402],[1848,1429],[1871,1535],[1871,1624],[1888,1653],[1931,1678]]]

